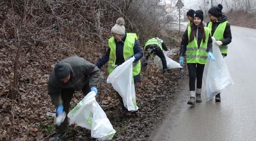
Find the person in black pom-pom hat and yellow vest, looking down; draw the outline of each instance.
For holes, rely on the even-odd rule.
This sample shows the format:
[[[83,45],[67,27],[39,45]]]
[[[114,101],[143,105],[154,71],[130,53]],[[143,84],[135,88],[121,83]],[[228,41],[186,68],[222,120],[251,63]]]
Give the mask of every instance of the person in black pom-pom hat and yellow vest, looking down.
[[[227,56],[227,45],[232,40],[230,25],[227,17],[222,14],[222,5],[214,6],[208,10],[210,22],[207,27],[210,29],[211,35],[217,40],[216,45],[219,46],[220,52],[223,57]],[[220,93],[215,96],[215,101],[220,102]]]

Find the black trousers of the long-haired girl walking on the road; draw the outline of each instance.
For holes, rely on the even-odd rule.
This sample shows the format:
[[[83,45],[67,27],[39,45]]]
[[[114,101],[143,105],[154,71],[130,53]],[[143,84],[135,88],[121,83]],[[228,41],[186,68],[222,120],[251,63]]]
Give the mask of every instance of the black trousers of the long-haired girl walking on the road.
[[[204,65],[198,63],[187,63],[189,73],[189,91],[195,91],[195,79],[196,88],[202,88]]]

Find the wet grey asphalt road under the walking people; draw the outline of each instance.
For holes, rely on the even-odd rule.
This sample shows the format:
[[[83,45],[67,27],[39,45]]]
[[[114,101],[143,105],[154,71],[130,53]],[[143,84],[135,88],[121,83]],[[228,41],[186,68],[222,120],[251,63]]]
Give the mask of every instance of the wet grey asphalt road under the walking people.
[[[221,92],[221,103],[209,100],[191,107],[185,78],[152,141],[256,141],[256,30],[231,26],[231,32],[224,60],[235,84]]]

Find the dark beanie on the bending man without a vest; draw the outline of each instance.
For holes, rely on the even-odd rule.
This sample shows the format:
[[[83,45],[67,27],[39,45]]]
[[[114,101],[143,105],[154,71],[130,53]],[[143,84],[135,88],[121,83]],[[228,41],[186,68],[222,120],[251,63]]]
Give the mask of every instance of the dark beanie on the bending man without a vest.
[[[54,68],[54,74],[57,79],[64,79],[70,75],[70,67],[67,63],[58,63]]]

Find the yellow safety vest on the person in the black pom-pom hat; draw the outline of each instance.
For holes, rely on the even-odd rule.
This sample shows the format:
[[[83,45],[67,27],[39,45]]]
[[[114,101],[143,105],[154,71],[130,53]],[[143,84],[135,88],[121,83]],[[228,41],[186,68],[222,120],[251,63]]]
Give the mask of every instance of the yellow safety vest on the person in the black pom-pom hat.
[[[219,26],[216,28],[216,30],[214,32],[214,35],[213,35],[216,40],[224,39],[224,31],[226,29],[227,23],[228,23],[227,21],[225,21],[223,23],[220,23]],[[209,22],[207,27],[210,30],[212,30],[212,26],[213,26],[213,22]],[[224,53],[224,54],[227,54],[227,48],[228,48],[227,45],[219,46],[220,52]]]

